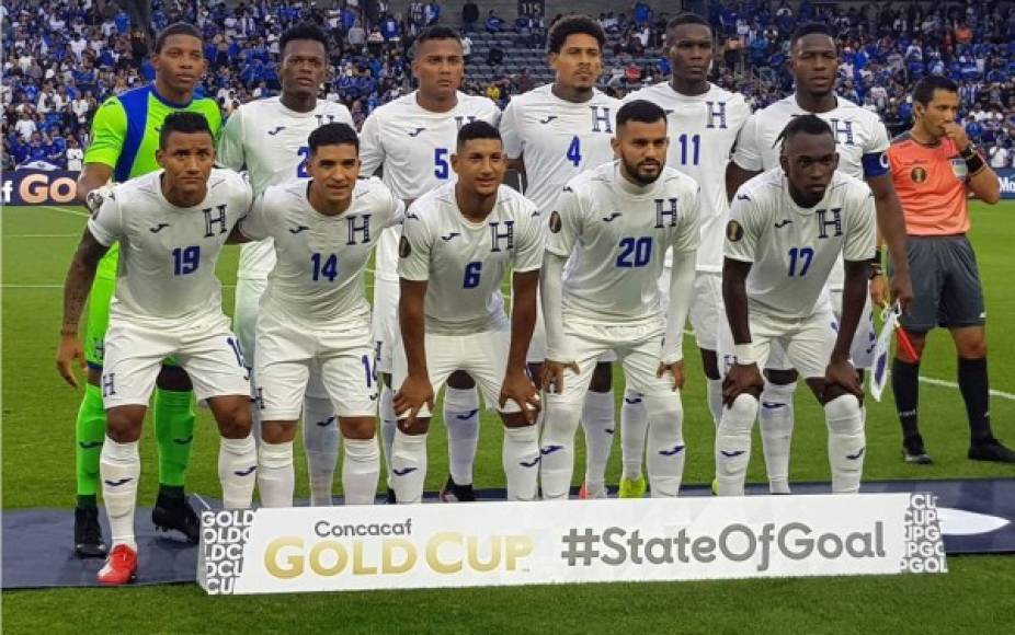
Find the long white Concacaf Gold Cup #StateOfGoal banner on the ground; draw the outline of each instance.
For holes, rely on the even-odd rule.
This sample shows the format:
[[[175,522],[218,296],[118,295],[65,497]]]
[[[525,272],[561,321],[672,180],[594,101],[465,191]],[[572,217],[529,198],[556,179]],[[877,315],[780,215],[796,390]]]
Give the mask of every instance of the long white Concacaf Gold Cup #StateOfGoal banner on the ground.
[[[944,573],[931,494],[206,511],[213,594]]]

